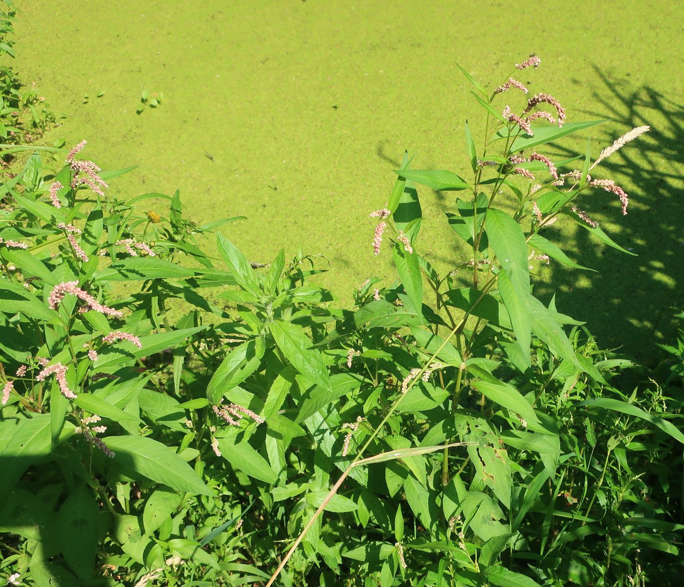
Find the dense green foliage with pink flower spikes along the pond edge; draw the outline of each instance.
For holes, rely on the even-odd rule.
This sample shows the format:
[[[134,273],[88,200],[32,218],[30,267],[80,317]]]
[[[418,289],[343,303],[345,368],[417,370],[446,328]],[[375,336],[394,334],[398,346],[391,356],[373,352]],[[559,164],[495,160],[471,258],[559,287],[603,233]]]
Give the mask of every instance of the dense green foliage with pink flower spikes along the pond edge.
[[[525,132],[466,77],[484,144],[466,125],[462,175],[404,154],[374,213],[397,279],[369,280],[349,309],[310,283],[318,258],[252,267],[218,232],[235,218],[198,226],[178,192],[105,195],[129,169],[79,161],[82,144],[55,176],[31,154],[3,183],[3,573],[267,584],[282,561],[285,585],[679,576],[684,342],[662,387],[625,392],[630,361],[531,290],[549,257],[584,269],[550,240],[559,215],[622,248],[575,207],[603,187],[591,150],[536,153],[601,121]],[[421,256],[423,186],[458,192],[446,221],[472,259],[446,275]],[[159,201],[164,215],[140,208]]]

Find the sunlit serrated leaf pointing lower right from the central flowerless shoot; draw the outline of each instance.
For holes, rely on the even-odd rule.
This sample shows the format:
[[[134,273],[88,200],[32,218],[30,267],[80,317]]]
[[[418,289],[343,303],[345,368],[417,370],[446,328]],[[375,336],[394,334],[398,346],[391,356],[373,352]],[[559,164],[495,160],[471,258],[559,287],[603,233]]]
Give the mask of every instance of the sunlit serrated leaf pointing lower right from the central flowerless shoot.
[[[289,322],[274,321],[270,325],[278,349],[290,364],[313,383],[332,392],[328,368],[318,349],[312,349],[311,340],[304,330]]]

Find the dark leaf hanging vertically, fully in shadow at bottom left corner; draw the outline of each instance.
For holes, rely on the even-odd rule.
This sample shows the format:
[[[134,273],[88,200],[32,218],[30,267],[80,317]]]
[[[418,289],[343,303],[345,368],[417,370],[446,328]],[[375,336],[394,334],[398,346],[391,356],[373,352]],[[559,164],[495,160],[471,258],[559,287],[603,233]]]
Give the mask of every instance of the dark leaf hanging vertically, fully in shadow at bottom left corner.
[[[68,565],[89,583],[95,569],[100,533],[100,508],[86,485],[66,498],[57,514],[57,538]]]

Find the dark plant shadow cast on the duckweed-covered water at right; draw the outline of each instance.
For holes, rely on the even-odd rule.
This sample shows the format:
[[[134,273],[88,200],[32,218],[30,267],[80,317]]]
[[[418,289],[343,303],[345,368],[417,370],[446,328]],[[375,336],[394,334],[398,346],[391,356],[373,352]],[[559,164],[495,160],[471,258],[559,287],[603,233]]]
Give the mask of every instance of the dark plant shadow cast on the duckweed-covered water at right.
[[[559,309],[586,320],[600,346],[619,346],[637,361],[650,363],[659,353],[653,343],[668,342],[676,332],[673,306],[684,301],[684,107],[652,87],[635,87],[629,79],[594,69],[603,85],[592,92],[592,104],[599,107],[586,113],[590,120],[613,122],[605,125],[603,136],[594,135],[599,140],[592,140],[592,159],[631,128],[648,124],[651,131],[592,171],[596,178],[611,178],[626,188],[629,214],[620,215],[617,198],[603,191],[582,197],[579,205],[597,219],[603,216],[605,223],[615,220],[616,225],[602,228],[638,256],[600,246],[577,226],[575,258],[599,273],[578,279],[577,271],[552,263],[551,278],[536,292],[542,299],[559,292]]]

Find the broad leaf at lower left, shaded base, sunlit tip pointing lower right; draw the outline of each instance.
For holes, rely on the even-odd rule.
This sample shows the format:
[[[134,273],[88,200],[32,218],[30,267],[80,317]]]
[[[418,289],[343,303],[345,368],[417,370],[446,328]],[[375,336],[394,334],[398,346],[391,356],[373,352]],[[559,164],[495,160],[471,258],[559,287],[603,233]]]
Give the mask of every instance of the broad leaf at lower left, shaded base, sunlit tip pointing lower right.
[[[127,472],[195,495],[211,495],[211,489],[178,454],[146,436],[109,436],[104,439],[116,453],[114,462]]]

